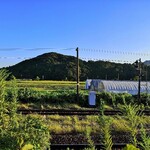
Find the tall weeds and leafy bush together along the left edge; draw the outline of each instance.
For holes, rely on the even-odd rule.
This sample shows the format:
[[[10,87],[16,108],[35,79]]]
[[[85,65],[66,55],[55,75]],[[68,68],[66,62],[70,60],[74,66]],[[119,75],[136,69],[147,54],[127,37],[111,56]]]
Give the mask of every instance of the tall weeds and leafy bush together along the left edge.
[[[16,80],[13,78],[9,90],[5,90],[7,76],[7,71],[0,70],[0,149],[27,149],[32,145],[33,150],[46,150],[50,139],[48,128],[39,118],[17,114]]]

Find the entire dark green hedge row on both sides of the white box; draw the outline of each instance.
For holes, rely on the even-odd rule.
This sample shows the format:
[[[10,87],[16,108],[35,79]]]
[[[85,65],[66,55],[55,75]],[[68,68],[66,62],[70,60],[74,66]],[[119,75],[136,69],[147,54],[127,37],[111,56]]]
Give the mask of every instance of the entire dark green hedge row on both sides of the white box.
[[[11,99],[11,89],[7,89],[6,99]],[[79,100],[77,101],[76,90],[57,90],[57,91],[39,91],[33,88],[19,88],[18,100],[21,103],[40,103],[48,105],[64,105],[64,104],[77,104],[80,107],[89,106],[89,92],[82,90],[79,92]],[[123,100],[127,104],[138,104],[136,96],[132,96],[127,93],[115,94],[109,92],[96,93],[96,107],[99,107],[103,102],[105,105],[109,105],[113,108],[117,108],[119,104],[123,104]],[[141,95],[141,104],[145,106],[150,105],[150,98],[147,94]],[[69,106],[68,106],[69,108]]]

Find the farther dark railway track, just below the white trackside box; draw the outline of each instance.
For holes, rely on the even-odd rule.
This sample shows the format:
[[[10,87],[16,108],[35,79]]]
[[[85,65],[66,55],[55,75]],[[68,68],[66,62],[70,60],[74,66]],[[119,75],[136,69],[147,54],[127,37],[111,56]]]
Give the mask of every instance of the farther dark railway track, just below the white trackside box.
[[[144,115],[150,116],[150,110],[142,111]],[[66,109],[47,109],[47,110],[38,110],[38,109],[19,109],[18,113],[23,115],[27,114],[40,114],[40,115],[101,115],[100,110],[66,110]],[[123,115],[120,110],[105,110],[105,115]]]

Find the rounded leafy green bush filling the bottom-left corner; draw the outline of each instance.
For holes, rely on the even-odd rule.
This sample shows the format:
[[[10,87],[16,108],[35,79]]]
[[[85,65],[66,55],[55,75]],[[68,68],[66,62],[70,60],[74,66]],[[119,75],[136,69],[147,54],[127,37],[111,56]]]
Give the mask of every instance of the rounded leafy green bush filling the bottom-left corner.
[[[46,150],[49,147],[49,130],[39,118],[20,116],[16,126],[11,121],[0,136],[0,149],[21,149],[26,144],[33,145],[33,150]]]

